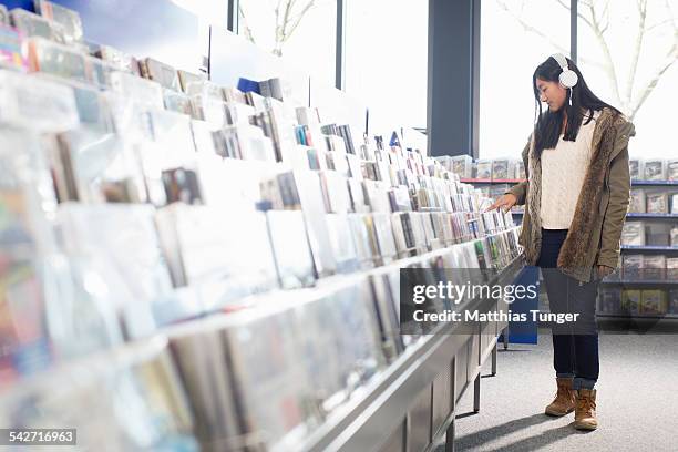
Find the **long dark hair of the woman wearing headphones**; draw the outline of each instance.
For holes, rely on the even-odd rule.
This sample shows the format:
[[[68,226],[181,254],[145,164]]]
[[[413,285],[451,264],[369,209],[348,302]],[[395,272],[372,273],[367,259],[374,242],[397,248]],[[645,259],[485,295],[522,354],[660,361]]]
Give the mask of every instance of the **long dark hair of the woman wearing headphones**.
[[[536,80],[542,79],[548,82],[557,83],[558,75],[561,75],[561,72],[563,72],[561,65],[553,56],[548,56],[546,61],[537,66],[532,75],[532,88],[534,90],[534,101],[536,104],[534,147],[537,156],[542,155],[543,150],[555,147],[556,144],[558,144],[565,113],[567,113],[567,126],[565,127],[565,136],[563,137],[565,141],[576,140],[577,133],[579,133],[579,127],[582,126],[584,114],[587,116],[585,124],[588,124],[593,119],[594,111],[603,110],[603,107],[608,107],[616,113],[620,113],[619,110],[603,102],[590,91],[586,84],[586,81],[584,80],[584,76],[582,75],[582,72],[579,71],[579,68],[577,68],[577,65],[573,63],[571,59],[567,59],[567,65],[577,74],[579,80],[574,88],[567,89],[565,104],[556,112],[552,112],[551,110],[546,110],[546,112],[542,111],[542,102],[540,102],[540,90],[537,89]],[[568,99],[572,99],[572,105],[568,104]]]

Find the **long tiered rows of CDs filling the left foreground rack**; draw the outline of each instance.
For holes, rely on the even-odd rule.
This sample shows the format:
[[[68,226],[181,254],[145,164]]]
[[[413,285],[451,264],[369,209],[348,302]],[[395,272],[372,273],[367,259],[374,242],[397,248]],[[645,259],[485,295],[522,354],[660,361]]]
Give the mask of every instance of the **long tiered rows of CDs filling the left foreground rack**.
[[[30,74],[0,70],[2,425],[294,450],[417,339],[401,265],[518,255],[511,215],[419,151],[88,44],[40,3],[9,14]]]

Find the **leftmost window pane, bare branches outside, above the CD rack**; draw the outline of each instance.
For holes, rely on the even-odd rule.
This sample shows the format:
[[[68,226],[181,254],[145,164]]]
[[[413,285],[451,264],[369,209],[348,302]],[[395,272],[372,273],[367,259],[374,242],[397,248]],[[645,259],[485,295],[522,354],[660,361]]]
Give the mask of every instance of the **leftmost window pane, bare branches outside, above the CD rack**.
[[[335,85],[336,0],[239,0],[238,34],[290,69]]]

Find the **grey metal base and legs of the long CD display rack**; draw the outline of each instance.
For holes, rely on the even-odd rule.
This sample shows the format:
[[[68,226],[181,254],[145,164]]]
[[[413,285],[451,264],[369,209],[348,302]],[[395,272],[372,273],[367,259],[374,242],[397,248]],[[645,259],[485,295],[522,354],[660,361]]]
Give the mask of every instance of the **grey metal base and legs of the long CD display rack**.
[[[516,279],[522,256],[514,259],[491,284],[506,285]],[[492,304],[490,301],[490,304]],[[486,309],[487,301],[471,302],[468,309]],[[492,307],[496,307],[494,301]],[[501,307],[496,307],[501,309]],[[492,358],[492,373],[496,372],[496,340],[506,323],[479,327],[477,333],[455,333],[453,323],[441,325],[432,335],[408,349],[377,381],[371,382],[346,407],[332,413],[327,422],[309,435],[299,451],[408,451],[413,444],[434,450],[446,434],[446,451],[454,450],[454,417],[456,402],[473,382],[474,411],[480,410],[481,369]],[[482,336],[491,336],[482,338]],[[440,379],[440,377],[446,377]],[[440,388],[443,386],[444,388]],[[450,410],[442,422],[433,425],[434,394],[449,396]],[[413,405],[425,394],[424,409],[413,415]],[[422,415],[423,414],[423,415]],[[428,422],[420,429],[415,423]],[[424,438],[413,435],[425,432]],[[384,432],[394,432],[384,438]],[[384,445],[388,444],[388,449]]]

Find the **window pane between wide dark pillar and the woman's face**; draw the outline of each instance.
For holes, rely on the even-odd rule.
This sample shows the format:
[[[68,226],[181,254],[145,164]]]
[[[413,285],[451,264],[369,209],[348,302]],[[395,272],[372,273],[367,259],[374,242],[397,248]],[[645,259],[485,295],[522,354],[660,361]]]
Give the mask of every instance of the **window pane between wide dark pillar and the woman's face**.
[[[482,2],[481,158],[520,157],[535,119],[532,74],[555,52],[569,56],[569,0]]]

